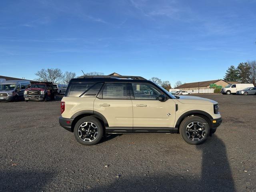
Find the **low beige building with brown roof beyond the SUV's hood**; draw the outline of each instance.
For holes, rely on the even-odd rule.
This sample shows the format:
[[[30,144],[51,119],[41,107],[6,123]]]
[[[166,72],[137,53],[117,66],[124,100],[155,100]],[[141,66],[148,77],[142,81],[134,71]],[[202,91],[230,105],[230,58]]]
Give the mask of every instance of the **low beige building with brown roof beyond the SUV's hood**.
[[[229,83],[221,79],[211,80],[211,81],[201,81],[201,82],[194,82],[194,83],[185,83],[176,87],[176,89],[180,89],[180,90],[207,89],[207,88],[210,88],[210,84],[216,84],[217,86],[226,87]]]

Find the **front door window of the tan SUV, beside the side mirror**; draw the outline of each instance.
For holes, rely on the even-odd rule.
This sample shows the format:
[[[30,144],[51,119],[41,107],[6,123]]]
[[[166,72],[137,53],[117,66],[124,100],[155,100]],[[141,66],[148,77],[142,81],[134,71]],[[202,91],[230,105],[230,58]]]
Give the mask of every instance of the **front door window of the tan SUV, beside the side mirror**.
[[[160,92],[158,92],[158,90],[148,84],[132,83],[132,89],[135,99],[156,100],[160,95]]]

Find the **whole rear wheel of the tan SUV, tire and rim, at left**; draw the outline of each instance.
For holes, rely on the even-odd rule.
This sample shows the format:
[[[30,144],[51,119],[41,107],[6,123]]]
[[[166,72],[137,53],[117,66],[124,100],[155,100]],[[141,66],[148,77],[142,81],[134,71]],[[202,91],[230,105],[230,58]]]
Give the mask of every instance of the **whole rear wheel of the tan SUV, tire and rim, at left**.
[[[95,117],[84,117],[76,122],[74,136],[83,145],[97,144],[103,135],[103,128],[100,121]]]

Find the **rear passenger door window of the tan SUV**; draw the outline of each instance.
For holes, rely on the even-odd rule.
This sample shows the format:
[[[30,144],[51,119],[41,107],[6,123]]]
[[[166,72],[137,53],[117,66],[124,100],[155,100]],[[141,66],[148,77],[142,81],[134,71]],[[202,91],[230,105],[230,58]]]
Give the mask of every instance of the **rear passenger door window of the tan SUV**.
[[[125,83],[106,83],[103,93],[103,99],[126,99],[127,90]]]

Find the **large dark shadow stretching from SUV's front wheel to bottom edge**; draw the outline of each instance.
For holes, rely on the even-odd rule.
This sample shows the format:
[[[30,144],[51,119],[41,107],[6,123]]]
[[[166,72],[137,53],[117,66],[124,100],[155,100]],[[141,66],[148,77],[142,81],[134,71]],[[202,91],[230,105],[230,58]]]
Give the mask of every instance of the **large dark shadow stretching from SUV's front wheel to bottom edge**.
[[[113,183],[92,188],[89,191],[235,192],[236,189],[226,155],[226,147],[222,140],[214,135],[208,142],[196,146],[196,148],[202,151],[202,161],[191,162],[191,164],[202,163],[200,176],[190,172],[186,175],[181,175],[179,173],[158,173],[157,175],[148,176],[130,175],[130,177],[126,178],[122,178],[121,176]]]

